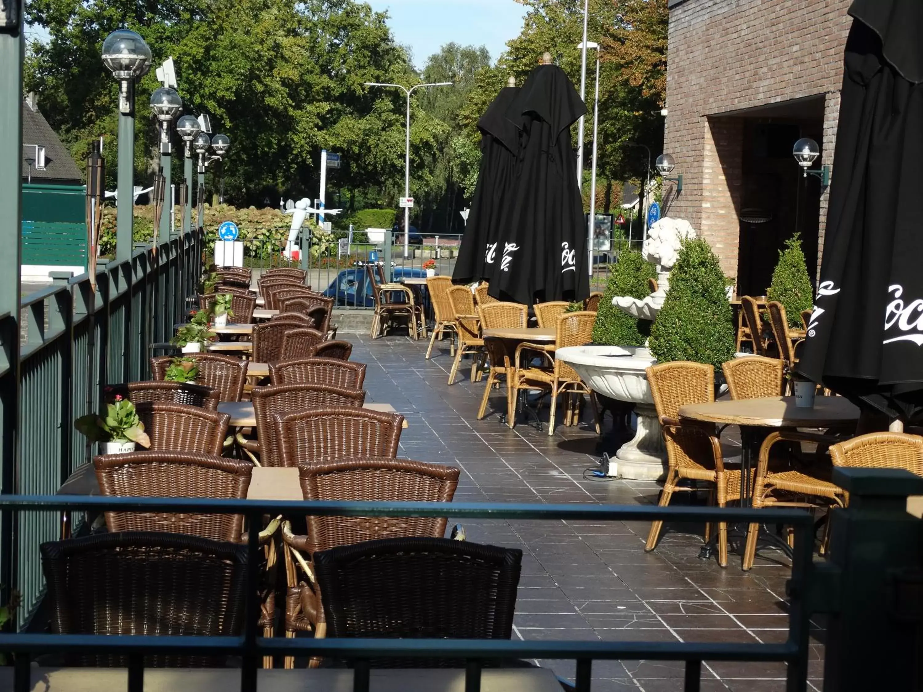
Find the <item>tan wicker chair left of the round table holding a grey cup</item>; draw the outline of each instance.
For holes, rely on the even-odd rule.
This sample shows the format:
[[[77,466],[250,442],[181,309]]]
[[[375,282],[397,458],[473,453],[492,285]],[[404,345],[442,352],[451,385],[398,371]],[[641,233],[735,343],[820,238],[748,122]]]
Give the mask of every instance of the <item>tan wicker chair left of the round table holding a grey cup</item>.
[[[679,485],[687,480],[714,483],[714,501],[718,507],[740,499],[740,471],[725,469],[714,425],[679,422],[681,406],[714,400],[714,368],[677,361],[652,365],[646,372],[666,443],[668,470],[659,506],[669,505],[674,493],[694,490]],[[651,525],[646,551],[656,547],[663,523],[654,521]],[[707,534],[708,531],[706,540]],[[718,523],[718,564],[727,567],[727,524],[724,521]]]

